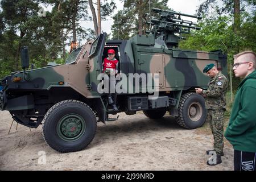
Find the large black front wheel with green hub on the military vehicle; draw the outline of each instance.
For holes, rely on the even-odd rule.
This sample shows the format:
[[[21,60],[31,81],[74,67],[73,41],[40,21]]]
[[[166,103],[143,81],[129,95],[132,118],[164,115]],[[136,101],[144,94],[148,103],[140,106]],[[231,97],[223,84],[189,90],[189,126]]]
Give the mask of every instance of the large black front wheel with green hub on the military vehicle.
[[[43,119],[43,137],[59,152],[75,152],[92,142],[97,129],[96,116],[84,102],[66,100],[48,110]]]

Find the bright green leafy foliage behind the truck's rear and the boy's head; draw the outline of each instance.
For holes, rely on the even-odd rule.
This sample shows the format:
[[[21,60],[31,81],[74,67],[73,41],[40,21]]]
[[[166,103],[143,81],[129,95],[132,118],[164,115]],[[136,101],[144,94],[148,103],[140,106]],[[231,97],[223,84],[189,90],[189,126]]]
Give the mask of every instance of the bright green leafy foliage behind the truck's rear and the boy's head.
[[[202,29],[192,31],[187,40],[180,42],[179,48],[201,51],[221,49],[228,55],[228,71],[232,74],[233,89],[236,90],[240,79],[234,77],[230,65],[233,64],[233,55],[236,53],[245,50],[256,52],[256,21],[255,14],[243,12],[240,30],[234,33],[232,20],[231,15],[204,16],[199,23]]]

